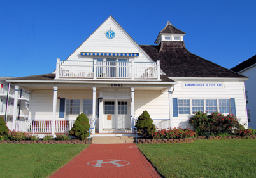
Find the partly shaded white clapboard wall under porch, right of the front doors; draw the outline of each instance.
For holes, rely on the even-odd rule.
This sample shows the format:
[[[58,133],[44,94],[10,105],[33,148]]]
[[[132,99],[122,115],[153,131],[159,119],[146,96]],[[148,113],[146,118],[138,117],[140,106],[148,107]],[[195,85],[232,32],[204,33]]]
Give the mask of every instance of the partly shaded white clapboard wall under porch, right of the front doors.
[[[134,98],[136,118],[146,110],[152,119],[169,119],[168,92],[135,91]]]

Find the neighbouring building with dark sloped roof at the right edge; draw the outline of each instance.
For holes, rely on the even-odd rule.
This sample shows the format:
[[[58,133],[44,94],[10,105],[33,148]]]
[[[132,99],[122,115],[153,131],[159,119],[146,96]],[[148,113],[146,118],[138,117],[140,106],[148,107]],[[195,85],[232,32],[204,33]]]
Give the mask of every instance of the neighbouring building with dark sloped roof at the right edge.
[[[256,55],[231,68],[232,71],[250,77],[245,81],[248,127],[256,129]]]

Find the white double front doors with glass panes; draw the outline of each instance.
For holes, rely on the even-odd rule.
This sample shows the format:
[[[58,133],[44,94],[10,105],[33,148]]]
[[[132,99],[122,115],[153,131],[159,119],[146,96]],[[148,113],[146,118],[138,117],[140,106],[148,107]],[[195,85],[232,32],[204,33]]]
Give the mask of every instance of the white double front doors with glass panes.
[[[103,103],[103,129],[127,130],[130,129],[128,101],[104,101]]]

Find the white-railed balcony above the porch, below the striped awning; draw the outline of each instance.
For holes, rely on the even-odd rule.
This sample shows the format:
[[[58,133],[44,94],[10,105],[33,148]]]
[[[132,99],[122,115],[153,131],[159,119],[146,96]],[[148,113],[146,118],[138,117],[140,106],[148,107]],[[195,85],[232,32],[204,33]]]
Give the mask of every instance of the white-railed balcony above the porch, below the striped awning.
[[[160,80],[160,61],[60,61],[55,79],[130,79]]]

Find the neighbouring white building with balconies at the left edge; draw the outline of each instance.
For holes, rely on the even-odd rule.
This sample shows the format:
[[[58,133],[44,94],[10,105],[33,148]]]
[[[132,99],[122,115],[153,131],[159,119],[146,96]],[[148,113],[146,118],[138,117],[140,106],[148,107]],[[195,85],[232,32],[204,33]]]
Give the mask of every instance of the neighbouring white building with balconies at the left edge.
[[[11,127],[11,120],[13,119],[13,103],[15,89],[12,84],[8,84],[5,80],[13,79],[13,77],[0,77],[0,117],[8,123]],[[27,120],[29,116],[29,98],[30,92],[20,88],[18,90],[17,120]]]

